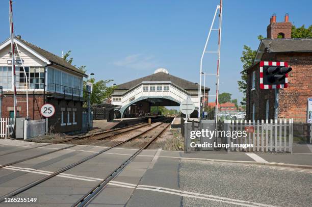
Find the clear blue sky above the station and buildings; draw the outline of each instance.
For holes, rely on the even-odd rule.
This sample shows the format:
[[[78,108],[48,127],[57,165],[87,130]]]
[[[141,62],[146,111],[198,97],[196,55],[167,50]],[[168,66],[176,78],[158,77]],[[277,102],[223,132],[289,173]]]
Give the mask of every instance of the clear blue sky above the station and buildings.
[[[0,2],[0,41],[9,37],[8,2]],[[72,50],[73,64],[86,65],[96,79],[120,84],[164,67],[170,74],[199,82],[199,61],[219,1],[22,1],[15,0],[16,35],[61,56]],[[312,24],[311,1],[223,2],[220,92],[241,100],[237,87],[243,45],[257,49],[273,13],[289,13],[297,27]],[[212,34],[210,48],[215,48]],[[214,41],[215,40],[215,41]],[[215,72],[214,55],[204,71]],[[206,85],[215,93],[215,77]],[[212,101],[212,100],[210,100]]]

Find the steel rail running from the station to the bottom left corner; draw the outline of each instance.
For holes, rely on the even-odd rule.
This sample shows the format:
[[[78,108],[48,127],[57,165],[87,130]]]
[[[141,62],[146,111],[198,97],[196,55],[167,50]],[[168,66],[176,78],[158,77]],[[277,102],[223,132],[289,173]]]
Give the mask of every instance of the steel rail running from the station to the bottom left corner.
[[[168,120],[168,119],[167,119],[167,120]],[[164,121],[167,121],[167,120],[164,120]],[[44,177],[42,177],[42,178],[40,178],[40,179],[38,179],[38,180],[36,180],[36,181],[34,181],[34,182],[28,184],[28,185],[25,185],[25,186],[23,186],[23,187],[21,187],[21,188],[18,188],[18,189],[16,189],[16,190],[14,190],[14,191],[12,191],[12,192],[10,192],[10,193],[8,193],[8,194],[6,194],[6,195],[0,197],[0,203],[3,202],[6,198],[13,197],[13,196],[15,196],[15,195],[17,195],[17,194],[19,194],[19,193],[21,193],[21,192],[24,192],[25,190],[28,190],[28,189],[30,189],[30,188],[32,188],[32,187],[34,187],[34,186],[37,186],[38,184],[43,183],[45,180],[47,180],[47,179],[49,179],[49,178],[52,178],[52,177],[54,177],[54,176],[56,176],[56,175],[58,175],[58,174],[60,174],[60,173],[62,173],[62,172],[64,172],[64,171],[66,171],[66,170],[69,170],[69,169],[71,169],[71,168],[73,168],[73,167],[75,167],[75,166],[77,166],[77,165],[79,165],[79,164],[81,164],[81,163],[84,163],[84,162],[86,162],[86,161],[88,161],[88,160],[90,160],[90,159],[92,159],[92,158],[98,156],[99,154],[102,154],[103,152],[106,152],[106,151],[108,151],[108,150],[110,150],[110,149],[112,149],[112,148],[114,148],[114,147],[117,147],[117,146],[119,146],[119,145],[121,145],[121,144],[123,144],[123,143],[125,143],[125,142],[128,142],[128,141],[130,141],[130,140],[133,140],[133,139],[135,139],[135,138],[137,138],[137,137],[139,137],[139,136],[141,136],[141,135],[143,135],[143,134],[145,134],[145,133],[147,133],[147,132],[153,130],[154,128],[158,127],[158,126],[161,125],[161,124],[163,124],[163,123],[159,123],[159,124],[157,124],[157,125],[155,125],[155,126],[152,126],[152,127],[149,128],[148,130],[146,130],[146,131],[140,133],[139,135],[136,135],[136,136],[134,136],[134,137],[132,137],[132,138],[129,138],[129,139],[125,140],[125,141],[122,141],[122,142],[120,142],[120,143],[118,143],[118,144],[115,144],[115,145],[112,146],[112,147],[109,147],[109,148],[100,150],[99,152],[96,152],[96,153],[94,153],[94,154],[91,154],[90,156],[88,156],[88,157],[86,157],[86,158],[84,158],[84,159],[82,159],[82,160],[80,160],[80,161],[77,161],[77,162],[75,162],[75,163],[72,163],[72,164],[70,164],[70,165],[64,167],[64,168],[61,168],[61,169],[59,169],[58,171],[56,171],[56,172],[54,172],[54,173],[52,173],[52,174],[50,174],[50,175],[44,176]],[[26,159],[26,160],[28,160],[28,159]],[[2,166],[0,166],[0,167],[2,167]]]

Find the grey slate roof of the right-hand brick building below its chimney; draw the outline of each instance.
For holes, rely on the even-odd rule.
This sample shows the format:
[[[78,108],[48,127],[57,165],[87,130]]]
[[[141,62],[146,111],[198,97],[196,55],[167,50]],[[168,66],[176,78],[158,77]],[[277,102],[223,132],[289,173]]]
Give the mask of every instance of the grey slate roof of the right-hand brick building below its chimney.
[[[312,38],[264,39],[269,53],[312,51]]]

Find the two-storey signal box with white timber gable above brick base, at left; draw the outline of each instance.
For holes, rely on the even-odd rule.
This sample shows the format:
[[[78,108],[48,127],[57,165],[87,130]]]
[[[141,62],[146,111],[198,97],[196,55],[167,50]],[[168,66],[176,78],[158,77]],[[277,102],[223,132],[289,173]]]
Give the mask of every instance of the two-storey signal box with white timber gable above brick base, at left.
[[[28,91],[29,118],[44,118],[43,104],[54,105],[56,112],[48,118],[52,132],[79,131],[82,128],[83,77],[76,67],[40,47],[16,36],[16,89],[17,115],[27,117],[26,90]],[[21,59],[21,60],[20,60]],[[25,68],[21,66],[21,61]],[[28,83],[28,87],[27,84]],[[14,117],[11,39],[0,43],[0,86],[3,87],[2,117]]]

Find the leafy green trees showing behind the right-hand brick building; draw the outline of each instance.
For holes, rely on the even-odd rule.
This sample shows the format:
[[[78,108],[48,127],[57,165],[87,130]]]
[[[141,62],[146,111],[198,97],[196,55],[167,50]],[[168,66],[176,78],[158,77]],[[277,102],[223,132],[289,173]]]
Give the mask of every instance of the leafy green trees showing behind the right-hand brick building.
[[[292,38],[306,38],[306,37],[312,37],[312,25],[308,27],[307,29],[304,28],[304,25],[302,25],[299,28],[296,28],[294,25],[292,27]],[[262,35],[258,35],[258,40],[264,39]],[[281,38],[278,37],[278,38]],[[244,94],[243,100],[241,101],[241,105],[246,105],[246,91],[247,91],[247,68],[252,66],[253,60],[255,58],[257,51],[252,50],[247,45],[244,45],[244,50],[242,52],[241,61],[243,63],[243,71],[241,72],[241,81],[238,81],[238,88],[239,90]]]

